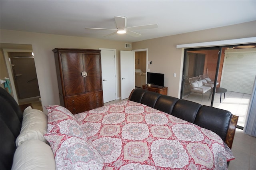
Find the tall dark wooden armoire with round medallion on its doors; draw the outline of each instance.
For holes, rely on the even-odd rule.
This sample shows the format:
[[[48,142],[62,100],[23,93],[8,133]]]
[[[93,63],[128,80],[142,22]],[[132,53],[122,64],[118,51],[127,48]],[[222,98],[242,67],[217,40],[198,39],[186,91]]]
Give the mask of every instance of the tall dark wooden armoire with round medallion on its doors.
[[[100,50],[55,48],[60,105],[71,113],[103,106]]]

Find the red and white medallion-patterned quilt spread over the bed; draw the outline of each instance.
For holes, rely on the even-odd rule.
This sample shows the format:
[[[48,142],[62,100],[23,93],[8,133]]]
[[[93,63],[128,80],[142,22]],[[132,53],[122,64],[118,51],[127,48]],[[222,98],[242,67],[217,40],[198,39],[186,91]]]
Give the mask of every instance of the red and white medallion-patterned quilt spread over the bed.
[[[74,115],[112,169],[227,169],[220,136],[141,103],[121,101]]]

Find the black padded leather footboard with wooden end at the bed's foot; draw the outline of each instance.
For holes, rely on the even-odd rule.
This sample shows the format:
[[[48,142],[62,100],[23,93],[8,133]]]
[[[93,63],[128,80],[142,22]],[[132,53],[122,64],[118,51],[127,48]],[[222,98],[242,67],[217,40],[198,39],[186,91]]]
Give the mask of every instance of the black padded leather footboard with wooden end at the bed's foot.
[[[230,149],[232,148],[238,116],[232,115],[229,111],[202,106],[199,103],[143,89],[134,89],[129,100],[212,130],[222,138]]]

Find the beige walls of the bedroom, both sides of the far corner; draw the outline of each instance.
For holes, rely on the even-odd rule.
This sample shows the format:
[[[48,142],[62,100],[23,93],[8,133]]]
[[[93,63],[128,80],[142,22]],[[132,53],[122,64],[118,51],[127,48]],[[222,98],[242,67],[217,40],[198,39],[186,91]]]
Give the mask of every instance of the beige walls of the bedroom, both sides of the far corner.
[[[255,28],[256,22],[248,22],[222,28],[135,42],[132,43],[132,49],[148,48],[148,61],[152,61],[152,65],[148,65],[150,72],[164,73],[165,86],[168,87],[168,95],[179,97],[183,56],[182,49],[177,49],[176,45],[255,37]],[[32,45],[43,106],[60,104],[52,49],[56,47],[87,49],[112,48],[116,49],[117,63],[120,63],[120,50],[127,50],[124,47],[126,42],[84,37],[40,34],[13,30],[0,30],[0,36],[1,43]],[[176,73],[176,77],[173,77],[173,73]],[[117,66],[117,77],[120,77],[119,64]],[[117,95],[120,97],[120,79],[118,79]]]

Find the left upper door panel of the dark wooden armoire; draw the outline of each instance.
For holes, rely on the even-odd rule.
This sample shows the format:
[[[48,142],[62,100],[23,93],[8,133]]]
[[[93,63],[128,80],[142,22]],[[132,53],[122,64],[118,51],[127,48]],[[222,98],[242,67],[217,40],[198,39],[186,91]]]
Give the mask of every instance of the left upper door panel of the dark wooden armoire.
[[[66,95],[85,92],[83,58],[81,54],[61,54],[63,81]]]

